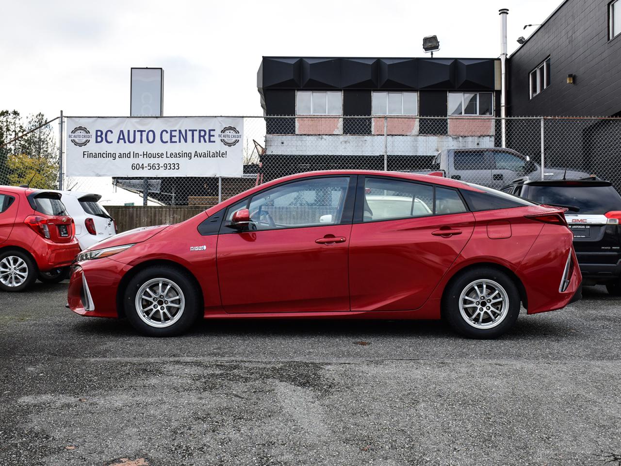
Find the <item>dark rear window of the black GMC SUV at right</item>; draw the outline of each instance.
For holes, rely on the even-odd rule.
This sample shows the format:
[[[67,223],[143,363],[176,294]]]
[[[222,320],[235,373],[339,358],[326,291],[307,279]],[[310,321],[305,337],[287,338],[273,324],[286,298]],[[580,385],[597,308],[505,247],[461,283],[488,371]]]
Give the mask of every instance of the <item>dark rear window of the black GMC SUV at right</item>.
[[[621,211],[621,196],[611,185],[528,186],[528,199],[541,204],[574,206],[579,214],[605,214]]]

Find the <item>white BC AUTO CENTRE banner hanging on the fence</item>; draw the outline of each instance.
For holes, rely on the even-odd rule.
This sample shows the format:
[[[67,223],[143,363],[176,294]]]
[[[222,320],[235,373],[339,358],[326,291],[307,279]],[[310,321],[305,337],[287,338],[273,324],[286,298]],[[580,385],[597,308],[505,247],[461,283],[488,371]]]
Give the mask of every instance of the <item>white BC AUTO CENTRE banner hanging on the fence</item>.
[[[67,118],[67,176],[242,176],[243,118]]]

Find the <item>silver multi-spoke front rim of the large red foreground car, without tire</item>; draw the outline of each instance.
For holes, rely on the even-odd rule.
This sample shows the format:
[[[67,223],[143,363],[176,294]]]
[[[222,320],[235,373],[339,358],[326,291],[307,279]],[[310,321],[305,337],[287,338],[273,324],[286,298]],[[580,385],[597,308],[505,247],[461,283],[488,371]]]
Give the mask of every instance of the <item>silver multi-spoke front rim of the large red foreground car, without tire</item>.
[[[170,327],[181,318],[185,305],[183,291],[168,278],[153,278],[136,293],[136,312],[151,327]]]

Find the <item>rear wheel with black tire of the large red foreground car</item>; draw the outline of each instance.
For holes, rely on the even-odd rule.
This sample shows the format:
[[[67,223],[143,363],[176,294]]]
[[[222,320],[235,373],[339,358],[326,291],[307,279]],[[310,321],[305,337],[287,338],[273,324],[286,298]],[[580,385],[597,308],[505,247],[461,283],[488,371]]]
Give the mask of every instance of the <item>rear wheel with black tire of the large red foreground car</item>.
[[[479,295],[483,291],[483,283],[486,284],[487,300],[471,301],[480,299],[476,296],[477,291],[474,291],[474,283],[478,283]],[[497,294],[494,290],[497,290]],[[463,299],[462,293],[465,293]],[[492,303],[489,302],[490,298]],[[494,302],[499,298],[502,298],[500,304]],[[467,303],[463,307],[464,314],[461,313],[460,299]],[[471,268],[452,280],[446,289],[442,301],[443,316],[463,336],[491,339],[501,336],[515,324],[520,314],[520,301],[519,290],[507,273],[492,267]],[[474,318],[474,321],[469,323],[466,316]]]

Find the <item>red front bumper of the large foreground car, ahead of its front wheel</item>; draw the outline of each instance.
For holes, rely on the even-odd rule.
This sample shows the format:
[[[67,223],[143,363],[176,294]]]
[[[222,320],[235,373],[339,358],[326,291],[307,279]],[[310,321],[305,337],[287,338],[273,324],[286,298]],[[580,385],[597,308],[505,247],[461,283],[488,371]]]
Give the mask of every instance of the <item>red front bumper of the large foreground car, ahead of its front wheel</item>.
[[[67,307],[76,314],[117,318],[117,291],[129,265],[110,258],[87,260],[71,267]]]

